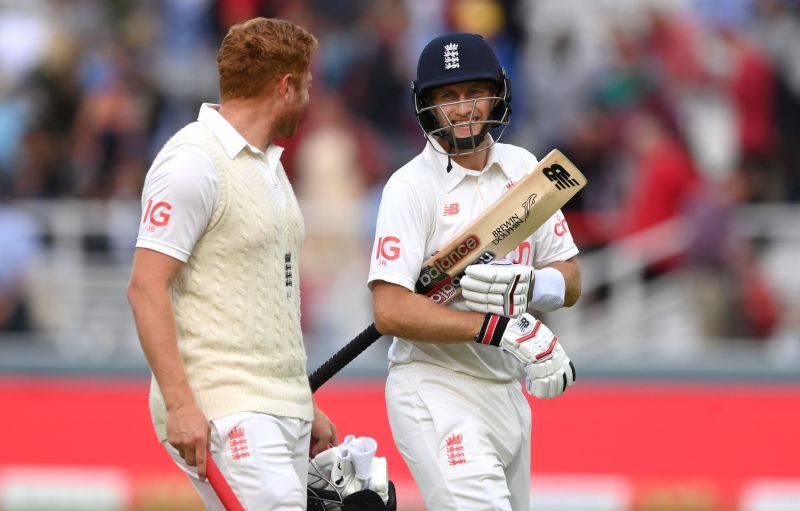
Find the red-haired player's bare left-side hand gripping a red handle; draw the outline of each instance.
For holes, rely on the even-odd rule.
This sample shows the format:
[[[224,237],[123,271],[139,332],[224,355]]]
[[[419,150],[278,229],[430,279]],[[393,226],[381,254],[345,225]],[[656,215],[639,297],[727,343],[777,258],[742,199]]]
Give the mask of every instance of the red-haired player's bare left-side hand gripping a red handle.
[[[206,452],[211,426],[195,402],[167,411],[167,441],[190,467],[197,467],[200,480],[206,478]]]

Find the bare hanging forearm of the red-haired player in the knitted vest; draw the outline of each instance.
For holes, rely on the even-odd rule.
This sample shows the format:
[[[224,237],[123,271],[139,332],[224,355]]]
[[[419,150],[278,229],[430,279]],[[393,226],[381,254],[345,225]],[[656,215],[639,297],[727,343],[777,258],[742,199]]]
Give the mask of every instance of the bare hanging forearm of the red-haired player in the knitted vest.
[[[142,351],[158,382],[167,409],[194,402],[194,394],[178,350],[172,302],[166,290],[131,286],[128,298]]]

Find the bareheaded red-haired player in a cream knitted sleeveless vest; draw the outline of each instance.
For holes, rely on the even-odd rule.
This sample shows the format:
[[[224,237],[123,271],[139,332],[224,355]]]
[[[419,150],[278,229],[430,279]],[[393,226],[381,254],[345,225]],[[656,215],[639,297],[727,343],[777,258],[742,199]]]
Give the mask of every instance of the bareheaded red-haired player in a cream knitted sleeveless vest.
[[[128,298],[153,424],[210,510],[223,507],[205,480],[207,448],[246,509],[304,510],[309,451],[337,444],[309,388],[305,231],[272,142],[297,130],[316,47],[283,20],[231,27],[220,104],[166,143],[142,194]]]

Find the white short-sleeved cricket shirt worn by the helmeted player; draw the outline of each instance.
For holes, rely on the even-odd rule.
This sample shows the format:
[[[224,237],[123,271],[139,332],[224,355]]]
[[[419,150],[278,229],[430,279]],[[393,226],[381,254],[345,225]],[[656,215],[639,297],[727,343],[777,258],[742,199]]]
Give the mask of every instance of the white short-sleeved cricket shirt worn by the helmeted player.
[[[383,189],[368,282],[383,280],[414,291],[424,261],[466,224],[530,172],[537,163],[527,150],[495,144],[482,171],[470,170],[434,150],[430,140],[413,160],[395,172]],[[507,258],[541,268],[577,255],[561,211],[553,215]],[[449,307],[466,310],[460,297]],[[429,362],[478,378],[512,380],[521,364],[494,346],[477,343],[433,344],[395,337],[393,364]]]

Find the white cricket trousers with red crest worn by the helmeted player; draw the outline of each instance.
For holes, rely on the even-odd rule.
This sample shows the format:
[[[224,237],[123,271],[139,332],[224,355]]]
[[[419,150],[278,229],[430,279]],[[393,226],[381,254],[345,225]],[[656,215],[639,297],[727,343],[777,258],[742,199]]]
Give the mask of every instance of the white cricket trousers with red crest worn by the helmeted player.
[[[519,381],[394,365],[392,434],[429,511],[528,511],[531,409]]]

